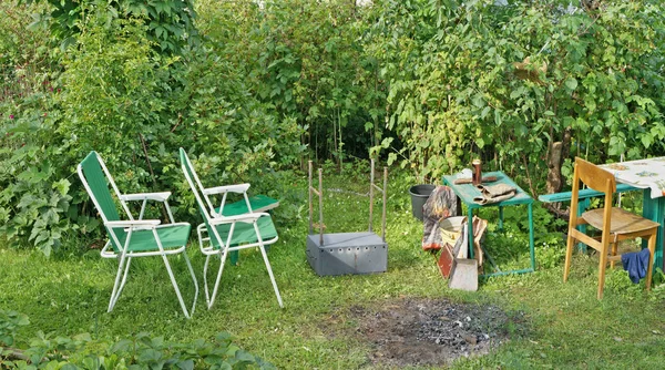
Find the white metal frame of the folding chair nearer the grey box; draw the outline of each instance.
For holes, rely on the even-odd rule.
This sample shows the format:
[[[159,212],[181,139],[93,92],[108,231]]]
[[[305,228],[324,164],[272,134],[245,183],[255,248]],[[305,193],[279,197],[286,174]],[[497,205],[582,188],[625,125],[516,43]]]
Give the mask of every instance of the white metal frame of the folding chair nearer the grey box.
[[[196,232],[198,235],[198,246],[201,248],[201,251],[206,256],[205,265],[203,268],[203,282],[204,282],[205,299],[206,299],[208,309],[211,309],[215,302],[215,297],[217,296],[217,292],[219,289],[219,281],[222,280],[222,273],[224,270],[224,264],[226,263],[226,258],[227,258],[228,254],[234,250],[247,249],[247,248],[253,248],[253,247],[258,247],[258,249],[260,250],[264,263],[266,265],[266,269],[268,270],[268,275],[270,277],[270,282],[273,284],[273,288],[275,290],[275,296],[277,296],[277,301],[279,302],[279,307],[284,308],[284,302],[282,301],[282,296],[279,295],[279,289],[277,288],[277,282],[275,281],[275,276],[274,276],[273,269],[270,267],[270,261],[268,260],[268,255],[266,254],[266,249],[265,249],[265,246],[277,241],[278,236],[275,236],[274,238],[272,238],[269,240],[264,240],[260,235],[260,232],[258,229],[258,226],[256,224],[258,218],[260,218],[263,216],[270,217],[270,215],[267,213],[252,212],[252,206],[249,205],[249,198],[247,196],[247,189],[249,188],[249,184],[226,185],[226,186],[217,186],[217,187],[209,187],[209,188],[203,187],[203,184],[198,179],[198,175],[196,175],[196,171],[194,169],[194,166],[192,165],[190,157],[187,156],[186,152],[182,147],[181,147],[181,153],[182,153],[182,156],[184,157],[184,160],[187,162],[187,166],[192,169],[191,171],[192,176],[190,176],[190,173],[188,173],[187,168],[185,167],[185,164],[184,163],[182,164],[182,169],[183,169],[183,173],[185,174],[185,178],[187,179],[190,187],[194,192],[194,196],[196,197],[196,202],[198,203],[200,207],[202,208],[202,213],[205,217],[206,223],[211,226],[211,229],[208,229],[206,226],[206,223],[203,223],[196,227]],[[192,177],[194,177],[194,178],[192,178]],[[223,216],[222,209],[224,207],[224,204],[226,202],[226,196],[228,193],[243,194],[245,202],[247,203],[248,213],[243,214],[243,215],[236,215],[236,216]],[[203,198],[202,198],[202,195],[203,195]],[[222,195],[222,203],[219,205],[218,213],[215,210],[213,203],[209,199],[211,195]],[[207,207],[208,207],[207,209],[205,209],[205,205],[207,205]],[[241,246],[235,246],[235,247],[229,247],[231,241],[233,240],[233,233],[234,233],[236,223],[252,224],[254,226],[254,232],[256,233],[258,241],[243,244]],[[217,232],[217,228],[215,227],[215,226],[222,225],[222,224],[231,224],[231,229],[228,232],[228,237],[227,237],[226,241],[223,240],[222,236]],[[211,236],[211,232],[213,234],[212,236]],[[207,234],[207,236],[205,236],[204,234]],[[216,238],[217,243],[221,246],[218,249],[214,248],[211,237]],[[207,243],[207,246],[205,245],[206,243]],[[208,294],[208,282],[207,282],[207,269],[208,269],[211,256],[214,256],[214,255],[219,256],[219,270],[217,271],[217,277],[215,279],[215,285],[213,287],[213,292],[212,292],[212,295],[209,295]]]

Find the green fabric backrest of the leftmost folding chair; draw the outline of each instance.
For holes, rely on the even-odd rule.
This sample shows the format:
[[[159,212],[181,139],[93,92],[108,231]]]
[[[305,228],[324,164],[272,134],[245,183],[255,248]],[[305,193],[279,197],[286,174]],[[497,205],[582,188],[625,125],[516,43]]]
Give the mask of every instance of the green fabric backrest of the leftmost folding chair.
[[[113,201],[113,195],[109,186],[111,186],[115,193],[115,198],[121,204],[126,216],[125,219],[134,219],[127,205],[121,199],[121,193],[117,189],[113,177],[109,173],[104,161],[102,161],[96,152],[90,152],[90,154],[81,161],[76,167],[76,172],[104,223],[122,219],[117,209],[117,204]],[[109,227],[106,227],[106,233],[109,234],[113,248],[117,250],[121,247],[121,239],[124,239],[122,233],[120,233],[121,235],[115,235]],[[116,236],[120,238],[116,238]]]

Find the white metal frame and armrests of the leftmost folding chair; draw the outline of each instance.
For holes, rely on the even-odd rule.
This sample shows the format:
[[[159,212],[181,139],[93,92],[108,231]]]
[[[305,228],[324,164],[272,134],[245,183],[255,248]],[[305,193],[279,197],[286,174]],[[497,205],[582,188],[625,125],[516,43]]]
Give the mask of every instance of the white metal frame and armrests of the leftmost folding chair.
[[[111,299],[109,301],[109,309],[106,312],[111,312],[113,310],[113,308],[115,307],[115,304],[117,302],[117,299],[120,298],[120,295],[125,286],[126,279],[127,279],[127,273],[130,270],[130,265],[132,263],[132,258],[162,256],[162,258],[164,260],[164,265],[166,266],[166,271],[168,273],[168,277],[171,278],[173,288],[175,289],[175,294],[180,301],[183,314],[185,315],[185,317],[192,318],[192,315],[194,315],[194,310],[196,308],[196,298],[198,297],[198,281],[196,280],[194,269],[192,268],[192,263],[190,261],[190,258],[187,257],[187,254],[185,251],[186,246],[183,245],[180,248],[165,250],[164,247],[162,246],[160,236],[157,235],[158,228],[172,227],[172,226],[176,226],[176,225],[181,225],[181,226],[190,225],[188,223],[175,223],[174,222],[173,214],[171,212],[171,207],[168,206],[168,202],[167,202],[168,196],[171,195],[171,192],[136,193],[136,194],[124,194],[123,195],[120,193],[117,185],[115,185],[115,182],[113,181],[113,176],[111,176],[111,173],[106,168],[106,164],[104,163],[102,157],[98,153],[95,153],[95,155],[102,167],[102,171],[104,172],[104,175],[106,176],[106,179],[111,184],[111,187],[113,188],[113,192],[115,193],[115,196],[120,201],[120,204],[121,204],[123,210],[125,212],[125,215],[129,218],[127,220],[109,220],[106,218],[106,215],[104,215],[104,213],[101,212],[102,207],[99,204],[98,199],[95,198],[90,185],[88,184],[85,176],[83,175],[83,169],[82,169],[81,164],[79,164],[79,166],[76,167],[79,177],[81,178],[81,182],[83,183],[83,186],[85,187],[85,191],[90,195],[90,198],[94,203],[96,209],[100,209],[100,216],[102,217],[103,224],[109,229],[109,232],[110,232],[109,234],[111,235],[111,237],[113,238],[113,241],[115,241],[115,245],[119,246],[119,249],[120,249],[117,253],[115,250],[113,250],[111,239],[109,239],[109,240],[106,240],[106,244],[104,245],[104,247],[101,250],[101,256],[103,258],[119,258],[120,257],[120,263],[117,266],[117,274],[115,276],[115,282],[113,285],[113,291],[111,292]],[[131,202],[131,201],[143,201],[143,204],[141,206],[141,213],[139,215],[139,219],[134,219],[134,217],[132,216],[132,213],[130,212],[130,208],[127,207],[127,205],[125,203],[125,202]],[[158,220],[158,219],[142,219],[147,201],[163,202],[166,207],[166,212],[168,214],[171,224],[161,225],[161,220]],[[125,232],[127,232],[127,237],[126,237],[124,245],[122,245],[120,243],[120,239],[117,238],[117,235],[114,232],[114,229],[116,229],[116,228],[122,228]],[[130,246],[130,243],[132,239],[132,233],[134,230],[145,230],[145,229],[152,230],[153,236],[157,243],[158,250],[127,251],[127,247]],[[120,247],[120,246],[122,246],[122,247]],[[192,276],[192,280],[194,281],[194,288],[195,288],[194,300],[192,304],[192,308],[190,310],[187,310],[187,307],[185,306],[182,294],[177,286],[177,281],[175,280],[173,270],[171,269],[171,265],[168,264],[168,259],[166,258],[166,256],[168,256],[168,255],[177,255],[177,254],[183,255],[183,258],[185,259],[185,263],[187,264],[187,269],[190,270],[190,275]],[[125,261],[126,261],[126,265],[125,265]],[[121,276],[122,276],[122,279],[121,279]]]

